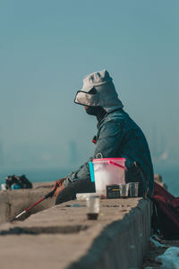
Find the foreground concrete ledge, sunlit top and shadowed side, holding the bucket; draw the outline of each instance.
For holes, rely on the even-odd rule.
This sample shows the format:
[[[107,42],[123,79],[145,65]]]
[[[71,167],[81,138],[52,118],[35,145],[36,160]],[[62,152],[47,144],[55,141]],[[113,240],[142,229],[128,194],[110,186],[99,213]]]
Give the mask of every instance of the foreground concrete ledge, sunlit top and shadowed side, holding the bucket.
[[[150,235],[150,202],[101,200],[98,221],[72,201],[0,226],[1,269],[141,268]],[[18,235],[19,234],[19,235]]]

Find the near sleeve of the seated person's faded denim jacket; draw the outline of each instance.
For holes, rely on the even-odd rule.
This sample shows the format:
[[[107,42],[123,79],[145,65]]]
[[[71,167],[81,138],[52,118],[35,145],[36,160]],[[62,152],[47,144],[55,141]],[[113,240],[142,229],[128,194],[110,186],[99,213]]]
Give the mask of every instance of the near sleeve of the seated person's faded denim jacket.
[[[115,158],[119,151],[119,146],[122,140],[121,127],[115,122],[108,122],[104,126],[101,126],[98,130],[98,141],[96,144],[96,150],[89,161],[99,158]],[[64,182],[65,186],[68,186],[72,181],[76,181],[82,178],[90,178],[89,161],[85,162],[81,167],[70,173]]]

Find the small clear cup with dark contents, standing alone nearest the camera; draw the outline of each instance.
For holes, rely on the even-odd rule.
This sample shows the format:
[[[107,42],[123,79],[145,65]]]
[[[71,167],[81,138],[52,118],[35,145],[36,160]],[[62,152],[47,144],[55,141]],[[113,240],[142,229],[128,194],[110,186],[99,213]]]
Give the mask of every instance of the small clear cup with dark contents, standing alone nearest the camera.
[[[98,213],[99,213],[99,202],[100,197],[98,195],[91,195],[86,200],[87,204],[87,216],[89,220],[97,220],[98,219]]]

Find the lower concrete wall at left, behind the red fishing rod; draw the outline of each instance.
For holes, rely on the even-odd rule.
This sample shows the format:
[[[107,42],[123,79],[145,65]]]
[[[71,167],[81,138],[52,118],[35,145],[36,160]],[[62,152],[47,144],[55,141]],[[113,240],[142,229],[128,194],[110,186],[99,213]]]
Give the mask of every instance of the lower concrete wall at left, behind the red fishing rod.
[[[10,221],[18,213],[28,208],[31,204],[36,203],[44,195],[52,190],[53,183],[34,183],[31,189],[16,189],[8,191],[0,191],[0,223]],[[41,204],[35,206],[31,213],[37,213],[47,209],[55,204],[55,199],[47,199]],[[29,213],[26,213],[21,220],[27,218]]]

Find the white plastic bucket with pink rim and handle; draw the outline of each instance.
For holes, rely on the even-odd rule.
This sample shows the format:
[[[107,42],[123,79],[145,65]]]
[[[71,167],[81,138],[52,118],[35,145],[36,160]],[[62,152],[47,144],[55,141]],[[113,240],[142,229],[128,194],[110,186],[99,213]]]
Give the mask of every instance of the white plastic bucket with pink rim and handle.
[[[107,186],[125,184],[124,158],[104,158],[90,161],[90,178],[95,181],[96,193],[107,196]]]

